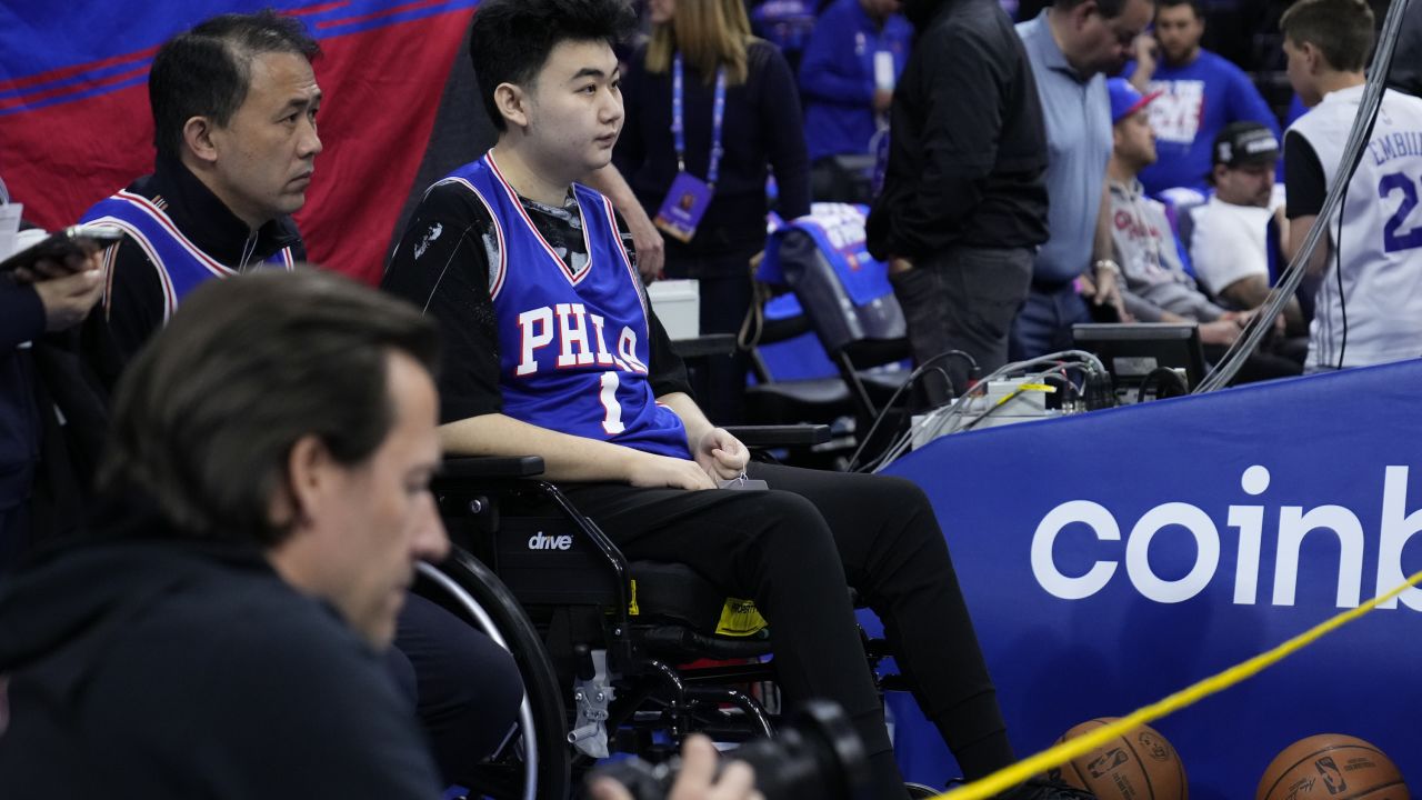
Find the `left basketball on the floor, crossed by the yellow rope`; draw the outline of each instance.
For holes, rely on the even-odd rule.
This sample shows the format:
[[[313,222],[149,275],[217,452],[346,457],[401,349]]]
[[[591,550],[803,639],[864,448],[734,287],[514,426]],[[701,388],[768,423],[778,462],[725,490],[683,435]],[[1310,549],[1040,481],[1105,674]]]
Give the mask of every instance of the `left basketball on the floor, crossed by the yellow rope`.
[[[1084,722],[1057,742],[1084,736],[1115,719]],[[1186,800],[1190,796],[1180,756],[1159,730],[1145,725],[1047,774],[1091,791],[1101,800]]]

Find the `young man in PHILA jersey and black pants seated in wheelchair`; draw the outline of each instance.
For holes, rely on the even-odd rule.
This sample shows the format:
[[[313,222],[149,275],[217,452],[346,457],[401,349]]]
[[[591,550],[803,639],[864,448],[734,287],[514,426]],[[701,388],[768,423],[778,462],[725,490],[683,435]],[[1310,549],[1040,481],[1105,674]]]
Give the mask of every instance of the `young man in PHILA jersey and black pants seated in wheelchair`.
[[[752,598],[774,628],[786,698],[836,700],[853,720],[873,797],[904,789],[846,584],[883,619],[964,774],[1011,763],[924,494],[897,478],[748,463],[690,396],[626,225],[577,184],[607,165],[623,124],[611,46],[630,21],[619,0],[489,0],[475,16],[469,50],[498,144],[429,188],[383,282],[444,335],[445,451],[540,456],[545,477],[627,558],[687,564]],[[718,488],[742,471],[769,488]]]

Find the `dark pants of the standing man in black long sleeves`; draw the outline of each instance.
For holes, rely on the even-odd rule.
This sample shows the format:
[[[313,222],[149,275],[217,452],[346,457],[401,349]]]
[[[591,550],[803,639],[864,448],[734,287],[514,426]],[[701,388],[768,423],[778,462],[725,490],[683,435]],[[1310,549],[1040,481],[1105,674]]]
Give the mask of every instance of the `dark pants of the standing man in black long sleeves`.
[[[1007,339],[1032,283],[1031,248],[948,248],[909,272],[889,276],[909,326],[914,366],[947,350],[963,350],[981,374],[1007,363]],[[968,363],[950,357],[941,374],[924,376],[924,399],[944,403],[968,389]]]

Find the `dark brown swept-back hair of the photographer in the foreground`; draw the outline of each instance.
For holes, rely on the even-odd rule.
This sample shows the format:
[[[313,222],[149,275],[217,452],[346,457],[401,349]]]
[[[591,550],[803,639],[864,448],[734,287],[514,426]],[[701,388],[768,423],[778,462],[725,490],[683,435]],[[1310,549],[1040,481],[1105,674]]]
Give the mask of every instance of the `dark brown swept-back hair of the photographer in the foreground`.
[[[347,465],[395,423],[390,353],[435,372],[434,325],[388,295],[300,268],[209,280],[119,380],[100,491],[146,500],[181,535],[270,548],[287,458],[316,436]]]

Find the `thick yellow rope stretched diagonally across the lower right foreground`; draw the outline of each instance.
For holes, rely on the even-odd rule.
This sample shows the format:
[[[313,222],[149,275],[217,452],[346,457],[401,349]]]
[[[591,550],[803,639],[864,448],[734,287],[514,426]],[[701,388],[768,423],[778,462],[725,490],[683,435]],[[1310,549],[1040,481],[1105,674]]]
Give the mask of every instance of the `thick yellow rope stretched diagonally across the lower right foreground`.
[[[1411,578],[1406,579],[1406,582],[1392,589],[1391,592],[1375,596],[1371,601],[1359,605],[1358,608],[1351,608],[1348,611],[1337,614],[1332,618],[1325,619],[1318,625],[1314,625],[1308,631],[1304,631],[1303,633],[1294,636],[1293,639],[1288,639],[1287,642],[1278,645],[1274,649],[1266,651],[1246,662],[1237,663],[1223,672],[1212,675],[1210,678],[1206,678],[1199,683],[1187,686],[1176,692],[1175,695],[1170,695],[1169,698],[1156,700],[1149,706],[1140,707],[1132,712],[1130,715],[1118,719],[1116,722],[1108,723],[1103,727],[1092,730],[1091,733],[1078,736],[1076,739],[1068,739],[1066,742],[1062,742],[1055,747],[1048,747],[1047,750],[1042,750],[1035,756],[1022,759],[1015,764],[1003,767],[1001,770],[981,780],[975,780],[967,786],[960,786],[951,791],[939,794],[933,800],[985,800],[988,797],[993,797],[994,794],[1003,791],[1004,789],[1011,789],[1025,781],[1030,777],[1038,776],[1052,767],[1065,764],[1066,762],[1075,759],[1076,756],[1089,753],[1091,750],[1095,750],[1096,747],[1105,744],[1106,742],[1115,739],[1116,736],[1121,736],[1122,733],[1126,733],[1128,730],[1136,726],[1160,719],[1165,715],[1177,712],[1192,703],[1209,698],[1216,692],[1221,692],[1241,680],[1258,675],[1266,668],[1270,668],[1278,663],[1280,660],[1288,658],[1290,655],[1295,653],[1297,651],[1314,643],[1322,635],[1331,633],[1338,628],[1342,628],[1344,625],[1352,622],[1354,619],[1358,619],[1364,614],[1368,614],[1369,611],[1376,608],[1378,604],[1401,595],[1405,589],[1418,585],[1418,582],[1422,582],[1422,572],[1413,574]]]

